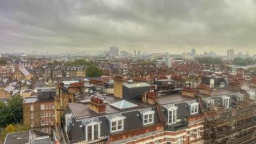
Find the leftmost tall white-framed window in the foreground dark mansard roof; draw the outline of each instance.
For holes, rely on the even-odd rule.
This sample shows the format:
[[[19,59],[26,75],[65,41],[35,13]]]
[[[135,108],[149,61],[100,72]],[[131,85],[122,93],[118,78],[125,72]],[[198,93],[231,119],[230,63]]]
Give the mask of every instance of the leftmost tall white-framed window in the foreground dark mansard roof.
[[[86,140],[93,141],[98,140],[100,136],[100,124],[99,123],[92,123],[86,125]]]

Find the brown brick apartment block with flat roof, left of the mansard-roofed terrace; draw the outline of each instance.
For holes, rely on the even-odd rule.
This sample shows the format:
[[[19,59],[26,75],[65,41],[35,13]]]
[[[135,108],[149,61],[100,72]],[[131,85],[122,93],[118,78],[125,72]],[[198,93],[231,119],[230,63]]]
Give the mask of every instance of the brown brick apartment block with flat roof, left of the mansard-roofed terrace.
[[[49,133],[54,125],[54,97],[56,88],[37,88],[37,95],[26,97],[23,103],[24,125],[41,132]]]

